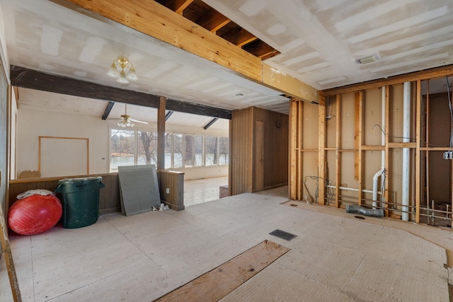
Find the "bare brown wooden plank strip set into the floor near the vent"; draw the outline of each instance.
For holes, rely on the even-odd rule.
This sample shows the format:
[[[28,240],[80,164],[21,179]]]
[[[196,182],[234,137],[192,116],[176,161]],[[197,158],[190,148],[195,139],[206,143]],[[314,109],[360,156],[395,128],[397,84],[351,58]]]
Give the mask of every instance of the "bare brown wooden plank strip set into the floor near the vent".
[[[264,240],[155,301],[219,301],[287,251],[283,245]]]

